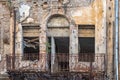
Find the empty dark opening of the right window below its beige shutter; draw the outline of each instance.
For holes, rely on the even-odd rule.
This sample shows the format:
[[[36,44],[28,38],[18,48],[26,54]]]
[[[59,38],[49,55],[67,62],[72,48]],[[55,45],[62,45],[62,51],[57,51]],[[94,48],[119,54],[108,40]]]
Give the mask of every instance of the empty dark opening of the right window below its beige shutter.
[[[93,62],[95,57],[95,38],[79,37],[79,61]]]

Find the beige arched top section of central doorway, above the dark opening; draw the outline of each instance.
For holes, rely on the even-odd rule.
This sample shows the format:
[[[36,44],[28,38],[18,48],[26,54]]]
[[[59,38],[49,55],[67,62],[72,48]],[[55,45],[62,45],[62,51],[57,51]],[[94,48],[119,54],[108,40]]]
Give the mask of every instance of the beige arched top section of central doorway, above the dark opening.
[[[48,37],[68,37],[69,36],[69,21],[60,14],[52,15],[47,22]]]

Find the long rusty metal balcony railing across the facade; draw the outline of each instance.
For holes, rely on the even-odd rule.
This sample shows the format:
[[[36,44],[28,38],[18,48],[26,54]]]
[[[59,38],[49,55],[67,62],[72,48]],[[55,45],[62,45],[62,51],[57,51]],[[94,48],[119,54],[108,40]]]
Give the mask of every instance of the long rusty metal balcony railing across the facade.
[[[39,55],[24,55],[25,58],[28,58],[29,60],[24,60],[23,56],[10,56],[6,55],[6,62],[7,62],[7,71],[10,72],[10,75],[13,74],[40,74],[44,75],[47,74],[50,79],[52,77],[59,77],[58,75],[64,75],[67,78],[74,77],[77,75],[82,75],[82,77],[87,77],[89,79],[87,80],[96,80],[93,79],[95,77],[99,77],[97,80],[104,80],[105,78],[105,54],[99,54],[99,55],[84,55],[87,57],[82,56],[79,57],[78,55],[71,55],[71,54],[64,54],[64,53],[56,53],[57,55],[51,56],[51,54],[47,56]],[[93,59],[94,57],[94,59]],[[12,63],[15,58],[15,68],[13,68]],[[36,59],[35,59],[36,58]],[[79,60],[79,58],[81,58]],[[85,59],[86,58],[86,59]],[[32,59],[32,60],[31,60]],[[44,59],[47,61],[46,70],[47,72],[42,72],[41,68],[41,62]],[[54,60],[53,60],[54,59]],[[74,59],[71,61],[71,59]],[[90,60],[90,61],[88,61]],[[52,61],[54,61],[55,64],[52,64]],[[77,62],[78,61],[78,62]],[[74,62],[74,63],[73,63]],[[43,63],[46,65],[46,63]],[[55,71],[52,73],[52,68]],[[57,68],[57,69],[56,69]],[[51,74],[48,74],[51,73]],[[74,75],[74,76],[73,76]],[[80,77],[80,76],[79,76]],[[59,77],[60,78],[60,77]],[[68,79],[69,80],[69,79]],[[78,79],[80,80],[80,78]],[[81,79],[82,80],[82,79]]]

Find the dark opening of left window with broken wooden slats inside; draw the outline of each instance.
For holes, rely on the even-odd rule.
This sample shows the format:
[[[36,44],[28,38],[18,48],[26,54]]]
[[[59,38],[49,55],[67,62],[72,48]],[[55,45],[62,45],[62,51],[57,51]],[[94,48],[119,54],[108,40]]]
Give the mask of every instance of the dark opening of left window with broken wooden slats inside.
[[[38,37],[24,37],[24,60],[39,60],[39,38]]]

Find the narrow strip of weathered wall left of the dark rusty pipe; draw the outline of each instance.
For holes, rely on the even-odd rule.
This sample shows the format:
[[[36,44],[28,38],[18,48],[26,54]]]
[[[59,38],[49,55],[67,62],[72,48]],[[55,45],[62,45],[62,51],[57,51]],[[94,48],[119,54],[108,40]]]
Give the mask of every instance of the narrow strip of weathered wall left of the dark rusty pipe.
[[[10,52],[10,12],[7,4],[0,2],[0,74],[6,71],[5,55]]]

